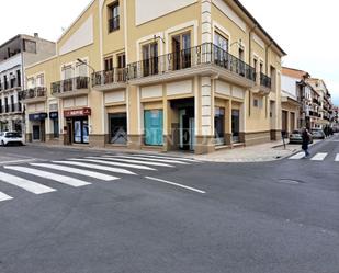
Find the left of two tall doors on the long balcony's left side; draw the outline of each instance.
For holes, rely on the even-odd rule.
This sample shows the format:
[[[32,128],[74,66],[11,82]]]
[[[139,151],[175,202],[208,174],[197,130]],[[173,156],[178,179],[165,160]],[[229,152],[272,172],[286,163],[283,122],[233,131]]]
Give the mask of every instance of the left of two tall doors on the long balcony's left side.
[[[158,43],[143,46],[144,77],[158,73]]]

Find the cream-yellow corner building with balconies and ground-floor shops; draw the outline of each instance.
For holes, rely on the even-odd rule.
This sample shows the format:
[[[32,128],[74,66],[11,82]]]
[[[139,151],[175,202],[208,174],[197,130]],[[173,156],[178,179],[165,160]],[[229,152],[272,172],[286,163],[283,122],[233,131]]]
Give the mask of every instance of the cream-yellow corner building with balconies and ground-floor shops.
[[[284,55],[235,0],[95,0],[26,75],[50,141],[206,153],[280,138]]]

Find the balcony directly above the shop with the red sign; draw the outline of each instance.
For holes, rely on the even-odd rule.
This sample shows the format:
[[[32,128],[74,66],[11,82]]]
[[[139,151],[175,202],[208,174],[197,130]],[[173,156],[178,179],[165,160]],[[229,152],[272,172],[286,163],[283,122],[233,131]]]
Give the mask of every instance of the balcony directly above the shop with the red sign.
[[[90,92],[89,82],[89,77],[76,77],[53,82],[50,84],[52,95],[56,98],[69,98],[88,94]]]

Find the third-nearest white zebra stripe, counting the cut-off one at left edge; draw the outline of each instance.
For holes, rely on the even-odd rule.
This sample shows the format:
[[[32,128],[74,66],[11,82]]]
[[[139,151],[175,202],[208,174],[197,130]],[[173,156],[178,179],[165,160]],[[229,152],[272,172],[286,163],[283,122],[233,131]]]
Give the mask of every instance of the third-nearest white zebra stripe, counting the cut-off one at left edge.
[[[5,166],[4,168],[9,169],[9,170],[14,170],[14,171],[32,174],[32,175],[35,175],[35,177],[39,177],[39,178],[43,178],[43,179],[49,179],[49,180],[57,181],[59,183],[70,185],[70,186],[75,186],[75,187],[91,184],[91,183],[81,181],[79,179],[74,179],[74,178],[69,178],[69,177],[65,177],[65,175],[60,175],[60,174],[56,174],[56,173],[52,173],[52,172],[46,172],[46,171],[41,171],[41,170],[32,169],[32,168],[26,168],[26,167]]]

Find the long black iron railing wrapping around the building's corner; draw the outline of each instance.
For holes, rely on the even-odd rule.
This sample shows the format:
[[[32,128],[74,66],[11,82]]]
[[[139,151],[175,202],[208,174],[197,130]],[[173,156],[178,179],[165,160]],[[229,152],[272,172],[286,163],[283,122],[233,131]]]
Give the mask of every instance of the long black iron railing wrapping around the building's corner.
[[[253,67],[212,43],[129,64],[127,78],[128,80],[140,79],[201,65],[214,65],[256,81]]]

